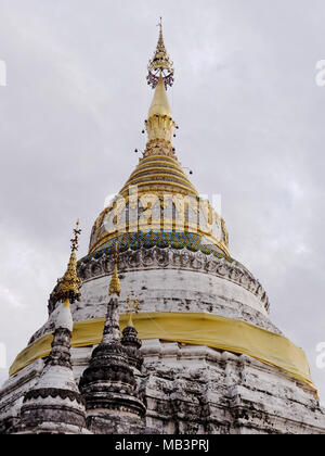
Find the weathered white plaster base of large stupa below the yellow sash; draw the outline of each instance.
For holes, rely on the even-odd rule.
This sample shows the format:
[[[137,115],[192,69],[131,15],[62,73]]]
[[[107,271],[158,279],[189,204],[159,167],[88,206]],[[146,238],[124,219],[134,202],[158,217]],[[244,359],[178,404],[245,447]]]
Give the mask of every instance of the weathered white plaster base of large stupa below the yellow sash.
[[[91,352],[73,350],[77,383]],[[142,353],[136,380],[147,405],[146,426],[159,433],[325,433],[313,391],[278,369],[246,355],[159,340],[143,341]],[[30,372],[41,365],[34,363],[6,383],[1,418],[18,414],[20,401],[12,401],[35,383]]]

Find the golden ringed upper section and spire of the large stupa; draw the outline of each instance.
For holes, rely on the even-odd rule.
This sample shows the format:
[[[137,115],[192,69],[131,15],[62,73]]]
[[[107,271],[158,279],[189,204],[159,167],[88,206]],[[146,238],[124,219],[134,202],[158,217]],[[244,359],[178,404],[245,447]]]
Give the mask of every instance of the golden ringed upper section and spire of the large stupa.
[[[96,219],[89,253],[128,232],[178,230],[205,237],[206,244],[229,255],[224,220],[207,201],[199,199],[176,155],[172,137],[177,126],[167,96],[167,87],[173,83],[173,67],[165,48],[161,23],[159,27],[158,45],[148,65],[147,80],[155,93],[145,121],[147,143],[126,185]],[[139,210],[138,218],[132,215],[131,219],[134,208]],[[143,215],[147,216],[146,224]]]

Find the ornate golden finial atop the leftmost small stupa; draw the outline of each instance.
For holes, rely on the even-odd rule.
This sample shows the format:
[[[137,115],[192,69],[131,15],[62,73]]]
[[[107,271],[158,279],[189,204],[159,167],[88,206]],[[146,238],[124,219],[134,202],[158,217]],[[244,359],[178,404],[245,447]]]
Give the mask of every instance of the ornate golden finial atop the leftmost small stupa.
[[[76,251],[78,250],[78,236],[81,229],[79,229],[79,220],[77,220],[76,228],[74,229],[75,237],[70,240],[72,242],[72,254],[67,265],[65,275],[57,280],[57,286],[54,289],[53,297],[56,301],[64,301],[64,305],[68,306],[70,302],[79,301],[80,293],[79,288],[81,287],[81,279],[77,276],[77,257]]]

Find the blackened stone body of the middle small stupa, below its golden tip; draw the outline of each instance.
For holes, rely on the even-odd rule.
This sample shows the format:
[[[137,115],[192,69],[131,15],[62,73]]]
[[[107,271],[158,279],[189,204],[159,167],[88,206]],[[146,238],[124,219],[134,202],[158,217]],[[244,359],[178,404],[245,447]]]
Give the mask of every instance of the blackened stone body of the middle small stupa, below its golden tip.
[[[90,365],[84,370],[79,388],[86,400],[87,423],[94,433],[116,433],[115,421],[139,432],[145,427],[145,405],[136,390],[132,363],[141,367],[141,355],[136,354],[136,331],[131,331],[128,349],[121,344],[118,326],[118,300],[108,303],[102,343],[94,349]],[[134,339],[135,338],[135,339]],[[134,362],[135,359],[135,362]],[[120,421],[120,418],[123,420]]]

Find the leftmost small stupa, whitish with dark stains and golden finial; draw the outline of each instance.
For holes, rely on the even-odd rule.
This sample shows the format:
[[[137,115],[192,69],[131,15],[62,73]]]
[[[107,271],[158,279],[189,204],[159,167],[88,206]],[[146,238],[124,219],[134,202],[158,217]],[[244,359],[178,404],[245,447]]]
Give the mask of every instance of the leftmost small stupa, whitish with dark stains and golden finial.
[[[38,382],[24,396],[16,433],[89,433],[86,429],[84,401],[75,381],[70,354],[74,327],[70,301],[79,299],[81,284],[76,268],[80,232],[78,220],[67,270],[53,292],[60,303],[51,352]]]

